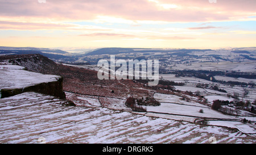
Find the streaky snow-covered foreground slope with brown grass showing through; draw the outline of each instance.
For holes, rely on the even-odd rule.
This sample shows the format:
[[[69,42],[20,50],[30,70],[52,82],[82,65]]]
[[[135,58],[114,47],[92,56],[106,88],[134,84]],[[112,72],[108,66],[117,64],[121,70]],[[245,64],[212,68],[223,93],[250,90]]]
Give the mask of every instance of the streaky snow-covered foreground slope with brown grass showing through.
[[[32,92],[0,99],[0,143],[256,143],[223,127],[63,102]]]

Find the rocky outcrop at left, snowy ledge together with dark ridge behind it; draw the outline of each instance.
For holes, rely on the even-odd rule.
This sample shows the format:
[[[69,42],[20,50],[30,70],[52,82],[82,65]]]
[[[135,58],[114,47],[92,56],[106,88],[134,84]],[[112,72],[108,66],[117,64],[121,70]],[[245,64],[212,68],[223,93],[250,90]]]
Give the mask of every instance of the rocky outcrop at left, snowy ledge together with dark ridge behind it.
[[[0,98],[34,91],[65,99],[63,77],[48,72],[48,70],[55,70],[57,64],[47,57],[41,55],[0,56],[0,62],[2,66],[0,67]]]

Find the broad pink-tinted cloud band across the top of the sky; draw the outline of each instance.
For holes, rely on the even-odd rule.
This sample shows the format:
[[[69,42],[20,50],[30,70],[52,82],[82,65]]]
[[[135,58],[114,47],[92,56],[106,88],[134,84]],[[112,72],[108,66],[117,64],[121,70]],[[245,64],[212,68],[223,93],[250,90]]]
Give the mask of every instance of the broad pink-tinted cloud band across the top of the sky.
[[[176,9],[159,10],[156,3],[147,0],[36,0],[0,1],[0,16],[26,16],[55,20],[91,20],[97,15],[115,16],[129,20],[163,20],[167,22],[207,22],[230,20],[256,15],[254,0],[158,0],[161,4],[176,5]]]

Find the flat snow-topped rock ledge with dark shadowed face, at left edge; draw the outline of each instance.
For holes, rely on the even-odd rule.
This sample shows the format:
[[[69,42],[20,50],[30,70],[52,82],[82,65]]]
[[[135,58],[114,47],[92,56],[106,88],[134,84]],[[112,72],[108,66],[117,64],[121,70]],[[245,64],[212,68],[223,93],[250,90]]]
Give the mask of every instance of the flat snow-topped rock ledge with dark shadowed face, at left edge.
[[[28,72],[16,65],[2,65],[0,68],[1,98],[27,91],[35,91],[65,99],[63,77]]]

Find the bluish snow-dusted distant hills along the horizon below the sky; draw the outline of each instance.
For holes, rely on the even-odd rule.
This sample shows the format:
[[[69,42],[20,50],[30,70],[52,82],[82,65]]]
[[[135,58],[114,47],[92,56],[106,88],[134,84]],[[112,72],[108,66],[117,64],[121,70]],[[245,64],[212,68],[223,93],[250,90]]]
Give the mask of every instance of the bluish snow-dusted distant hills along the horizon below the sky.
[[[0,47],[0,56],[4,55],[28,55],[39,54],[55,62],[63,62],[64,64],[91,64],[96,65],[97,62],[109,55],[116,55],[115,58],[121,59],[159,59],[160,61],[168,61],[167,57],[179,57],[178,59],[185,62],[185,57],[192,59],[199,57],[214,58],[220,61],[255,61],[256,48],[240,48],[240,49],[161,49],[161,48],[98,48],[88,53],[69,53],[60,49],[34,48],[34,47]],[[101,56],[105,55],[105,56]],[[93,57],[91,57],[93,56]],[[186,60],[187,61],[187,60]],[[183,63],[184,63],[183,62]],[[187,61],[188,62],[188,61]],[[185,63],[187,63],[185,62]]]

